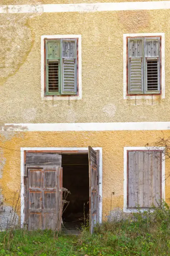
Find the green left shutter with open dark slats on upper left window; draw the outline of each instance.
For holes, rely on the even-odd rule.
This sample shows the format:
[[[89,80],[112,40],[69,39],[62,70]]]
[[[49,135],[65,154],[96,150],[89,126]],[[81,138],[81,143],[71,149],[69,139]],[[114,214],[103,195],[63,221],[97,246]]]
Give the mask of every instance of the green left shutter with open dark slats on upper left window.
[[[46,41],[46,95],[60,94],[60,40]]]

